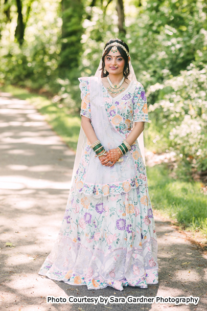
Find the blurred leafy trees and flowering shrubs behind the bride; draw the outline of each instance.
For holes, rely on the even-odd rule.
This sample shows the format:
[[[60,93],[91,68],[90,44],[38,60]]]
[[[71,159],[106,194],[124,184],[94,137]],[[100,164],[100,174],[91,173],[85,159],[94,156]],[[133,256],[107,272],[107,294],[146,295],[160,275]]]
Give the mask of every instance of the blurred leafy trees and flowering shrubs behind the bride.
[[[66,116],[70,117],[75,135],[65,139],[72,148],[80,126],[77,78],[94,75],[105,42],[119,37],[127,42],[137,80],[147,93],[147,148],[154,153],[174,152],[178,175],[191,179],[197,172],[207,182],[204,0],[0,3],[0,83],[47,96],[52,107],[44,102],[39,109],[48,115],[52,109],[53,126],[65,137]],[[60,119],[64,119],[61,126]],[[184,217],[179,216],[179,206],[177,210],[177,218]],[[195,224],[195,206],[192,211],[188,222]],[[202,210],[201,214],[206,228],[206,213]]]

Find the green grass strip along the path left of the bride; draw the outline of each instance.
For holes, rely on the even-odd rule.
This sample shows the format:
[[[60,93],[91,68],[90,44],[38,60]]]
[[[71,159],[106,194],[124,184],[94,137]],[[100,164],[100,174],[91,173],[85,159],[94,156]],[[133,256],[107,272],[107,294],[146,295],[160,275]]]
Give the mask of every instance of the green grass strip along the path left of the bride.
[[[40,114],[45,116],[45,119],[54,131],[62,137],[63,141],[73,150],[76,150],[81,125],[79,114],[71,114],[67,107],[60,108],[57,103],[53,103],[47,97],[29,93],[25,89],[12,85],[1,87],[1,91],[11,93],[13,96],[33,104]]]

